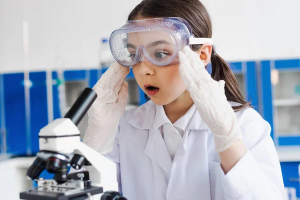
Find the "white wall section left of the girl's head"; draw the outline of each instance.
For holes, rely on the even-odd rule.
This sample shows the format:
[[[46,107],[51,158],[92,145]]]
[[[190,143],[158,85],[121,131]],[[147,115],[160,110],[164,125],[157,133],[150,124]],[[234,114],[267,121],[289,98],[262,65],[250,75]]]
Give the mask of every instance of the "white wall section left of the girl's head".
[[[135,1],[135,2],[134,2]],[[31,69],[97,65],[99,39],[139,0],[0,0],[0,70],[22,70],[22,20]]]

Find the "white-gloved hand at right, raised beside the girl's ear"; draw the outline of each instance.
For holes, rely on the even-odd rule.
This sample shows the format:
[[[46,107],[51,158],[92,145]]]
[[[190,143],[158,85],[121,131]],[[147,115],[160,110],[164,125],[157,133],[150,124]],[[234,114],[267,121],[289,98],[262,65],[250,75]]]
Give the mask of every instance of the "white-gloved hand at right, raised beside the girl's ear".
[[[226,150],[236,140],[242,139],[242,133],[235,113],[226,99],[224,80],[213,80],[199,55],[188,46],[184,46],[179,52],[179,62],[179,72],[186,89],[202,120],[213,133],[215,151]]]

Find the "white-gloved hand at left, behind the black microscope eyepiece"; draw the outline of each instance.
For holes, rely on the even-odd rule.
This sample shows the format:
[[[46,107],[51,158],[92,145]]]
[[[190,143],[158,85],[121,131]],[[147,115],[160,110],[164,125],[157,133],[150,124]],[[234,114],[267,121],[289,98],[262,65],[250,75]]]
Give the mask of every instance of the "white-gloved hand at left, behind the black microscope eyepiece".
[[[125,110],[130,68],[112,63],[93,86],[97,98],[87,111],[88,126],[83,143],[99,153],[112,150],[120,116]]]

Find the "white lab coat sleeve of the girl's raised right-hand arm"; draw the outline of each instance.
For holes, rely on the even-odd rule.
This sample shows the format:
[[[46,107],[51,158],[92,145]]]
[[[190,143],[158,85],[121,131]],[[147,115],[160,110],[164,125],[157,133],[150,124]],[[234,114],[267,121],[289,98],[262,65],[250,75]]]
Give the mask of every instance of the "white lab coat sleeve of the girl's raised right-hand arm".
[[[225,199],[284,199],[279,159],[270,125],[254,110],[240,126],[247,147],[241,159],[222,177]]]

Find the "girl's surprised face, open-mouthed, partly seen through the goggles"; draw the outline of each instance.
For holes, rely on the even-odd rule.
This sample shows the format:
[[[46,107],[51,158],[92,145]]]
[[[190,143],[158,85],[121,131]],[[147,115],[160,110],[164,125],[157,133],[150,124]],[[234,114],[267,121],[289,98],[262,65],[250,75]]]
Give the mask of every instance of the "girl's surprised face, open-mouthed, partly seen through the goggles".
[[[131,56],[135,56],[136,46],[144,46],[149,56],[155,60],[165,60],[173,52],[171,37],[162,31],[129,33],[127,38]],[[178,68],[178,62],[158,66],[142,55],[141,61],[132,66],[132,71],[138,85],[151,100],[156,104],[166,105],[186,90]]]

